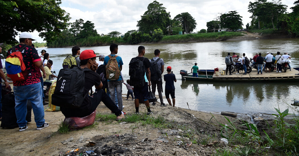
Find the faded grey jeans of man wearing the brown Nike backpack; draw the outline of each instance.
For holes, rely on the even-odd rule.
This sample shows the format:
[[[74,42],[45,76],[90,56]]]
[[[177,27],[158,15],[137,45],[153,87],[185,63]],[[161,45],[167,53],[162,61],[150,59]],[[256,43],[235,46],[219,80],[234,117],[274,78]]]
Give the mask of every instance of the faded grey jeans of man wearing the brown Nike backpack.
[[[123,110],[123,98],[122,98],[122,92],[123,92],[123,82],[122,81],[108,81],[108,88],[110,92],[110,98],[115,103],[115,89],[116,89],[116,97],[118,101],[118,109],[120,111]]]

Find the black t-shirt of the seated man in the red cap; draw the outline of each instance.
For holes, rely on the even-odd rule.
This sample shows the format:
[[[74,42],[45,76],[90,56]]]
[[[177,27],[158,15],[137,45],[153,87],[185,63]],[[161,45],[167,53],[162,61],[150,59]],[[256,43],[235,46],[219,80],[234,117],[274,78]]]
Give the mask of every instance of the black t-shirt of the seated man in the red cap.
[[[94,85],[99,86],[101,84],[100,75],[94,71],[84,71],[84,77],[84,95],[86,95]],[[67,107],[60,107],[60,110],[65,117],[85,117],[89,115],[90,109],[91,101],[88,95],[85,97],[82,105],[79,108],[70,109]]]

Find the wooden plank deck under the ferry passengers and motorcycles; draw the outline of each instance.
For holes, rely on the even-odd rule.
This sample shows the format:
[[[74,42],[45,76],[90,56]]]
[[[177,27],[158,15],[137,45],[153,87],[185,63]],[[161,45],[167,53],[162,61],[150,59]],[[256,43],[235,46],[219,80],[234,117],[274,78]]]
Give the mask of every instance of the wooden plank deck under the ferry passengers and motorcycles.
[[[219,68],[219,72],[221,73],[222,70],[220,70],[222,68]],[[220,76],[216,76],[216,74],[213,74],[213,78],[216,79],[285,79],[285,78],[299,78],[299,75],[295,75],[295,74],[299,74],[299,71],[295,70],[292,68],[292,71],[287,70],[286,72],[281,72],[281,73],[276,73],[276,71],[272,71],[269,73],[269,70],[267,70],[267,72],[263,71],[263,74],[257,74],[257,70],[256,69],[252,69],[252,71],[250,73],[247,73],[246,75],[243,75],[243,73],[241,73],[242,71],[239,72],[239,74],[236,74],[237,71],[235,71],[234,73],[232,73],[232,75],[229,75],[229,73],[226,75],[221,75]],[[244,71],[243,71],[244,72]]]

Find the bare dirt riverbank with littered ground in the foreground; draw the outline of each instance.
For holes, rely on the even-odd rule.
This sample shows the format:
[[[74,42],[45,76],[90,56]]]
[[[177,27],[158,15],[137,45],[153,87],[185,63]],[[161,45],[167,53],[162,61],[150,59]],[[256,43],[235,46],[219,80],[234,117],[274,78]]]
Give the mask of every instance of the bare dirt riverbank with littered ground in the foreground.
[[[135,112],[134,101],[123,98],[127,118]],[[45,106],[46,108],[46,106]],[[233,151],[237,146],[221,141],[224,134],[220,124],[230,124],[220,114],[210,114],[179,107],[152,106],[153,115],[147,117],[146,107],[140,105],[139,117],[143,121],[124,122],[111,119],[111,112],[100,103],[93,128],[71,131],[66,134],[58,132],[58,124],[64,119],[60,111],[45,112],[45,120],[50,124],[43,130],[36,130],[34,117],[28,123],[28,129],[19,132],[15,129],[0,129],[0,155],[64,155],[72,149],[80,148],[77,155],[86,150],[93,150],[102,155],[222,155],[224,151]],[[256,114],[247,116],[239,114],[237,118],[227,117],[231,122],[237,118],[249,123],[255,122],[260,132],[267,130],[266,122],[274,126],[273,116]],[[150,121],[149,121],[150,120]],[[245,130],[242,120],[234,121],[240,130]],[[84,146],[94,142],[95,146]],[[235,144],[235,145],[234,145]],[[237,144],[238,145],[238,144]],[[239,147],[243,150],[243,147]],[[247,148],[247,146],[246,146]],[[259,151],[272,153],[256,146]],[[267,152],[268,151],[268,152]],[[261,154],[261,152],[258,152]],[[259,155],[259,154],[258,154]],[[271,154],[270,154],[271,155]]]

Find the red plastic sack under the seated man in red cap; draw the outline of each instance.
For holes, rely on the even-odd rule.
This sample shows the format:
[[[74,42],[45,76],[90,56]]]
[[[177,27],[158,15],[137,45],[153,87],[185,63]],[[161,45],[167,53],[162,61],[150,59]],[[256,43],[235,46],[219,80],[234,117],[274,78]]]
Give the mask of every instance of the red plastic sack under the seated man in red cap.
[[[63,124],[67,124],[70,130],[79,130],[83,127],[90,126],[94,123],[95,120],[95,111],[92,112],[89,116],[83,118],[79,117],[69,117],[63,120]]]

